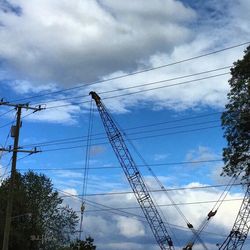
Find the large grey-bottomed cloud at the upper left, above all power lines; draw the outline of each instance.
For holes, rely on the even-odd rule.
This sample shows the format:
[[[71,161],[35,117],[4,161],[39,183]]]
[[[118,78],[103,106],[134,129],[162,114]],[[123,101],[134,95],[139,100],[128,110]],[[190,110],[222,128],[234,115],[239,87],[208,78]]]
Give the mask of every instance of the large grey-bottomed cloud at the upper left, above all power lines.
[[[0,13],[1,57],[19,78],[49,82],[76,83],[131,70],[187,40],[185,23],[195,16],[173,0],[11,3],[22,14]]]

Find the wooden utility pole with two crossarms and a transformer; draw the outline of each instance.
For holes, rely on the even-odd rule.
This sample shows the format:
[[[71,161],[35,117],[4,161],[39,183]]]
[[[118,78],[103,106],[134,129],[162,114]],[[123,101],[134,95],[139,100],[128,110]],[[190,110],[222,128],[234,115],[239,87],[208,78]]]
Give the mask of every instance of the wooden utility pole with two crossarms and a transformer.
[[[13,207],[13,194],[15,189],[15,175],[16,175],[16,162],[17,162],[17,153],[29,153],[34,154],[41,151],[38,151],[36,148],[34,150],[22,150],[19,148],[19,132],[21,128],[21,114],[22,109],[33,110],[33,112],[40,111],[44,108],[41,106],[38,107],[30,107],[29,104],[14,104],[9,102],[4,102],[3,99],[0,101],[0,105],[15,107],[17,110],[16,116],[16,124],[11,127],[11,137],[14,138],[14,146],[13,148],[0,148],[0,151],[12,152],[12,165],[11,165],[11,176],[10,176],[10,186],[8,193],[8,201],[6,208],[6,217],[5,217],[5,227],[4,227],[4,238],[3,238],[3,247],[2,250],[9,249],[9,235],[11,229],[11,215],[12,215],[12,207]]]

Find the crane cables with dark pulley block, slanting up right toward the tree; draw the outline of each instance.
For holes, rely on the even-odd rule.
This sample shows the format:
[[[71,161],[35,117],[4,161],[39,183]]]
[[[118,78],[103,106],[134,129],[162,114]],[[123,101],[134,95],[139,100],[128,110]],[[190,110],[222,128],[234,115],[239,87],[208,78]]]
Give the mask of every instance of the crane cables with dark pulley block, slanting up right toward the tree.
[[[225,187],[224,191],[221,193],[221,195],[218,198],[217,202],[214,204],[213,208],[207,214],[207,217],[203,220],[203,222],[201,223],[201,225],[198,227],[198,229],[196,231],[196,235],[197,236],[199,236],[201,234],[201,232],[207,227],[210,219],[216,215],[217,211],[219,210],[219,208],[221,207],[222,203],[226,199],[226,196],[228,195],[228,193],[229,193],[230,189],[232,188],[232,186],[235,184],[235,182],[236,182],[236,180],[237,180],[238,177],[239,177],[239,174],[232,176],[232,178],[229,180],[227,186]],[[183,249],[185,249],[185,250],[192,249],[192,246],[194,245],[194,243],[198,239],[197,236],[194,235],[191,238],[191,240],[188,242],[188,244],[186,245],[186,247],[183,248]]]

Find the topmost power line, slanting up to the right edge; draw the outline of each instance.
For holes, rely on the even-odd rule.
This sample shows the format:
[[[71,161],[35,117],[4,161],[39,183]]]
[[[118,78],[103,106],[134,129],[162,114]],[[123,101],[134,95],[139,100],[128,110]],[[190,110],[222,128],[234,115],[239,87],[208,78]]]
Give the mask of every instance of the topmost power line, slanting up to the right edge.
[[[122,79],[122,78],[125,78],[125,77],[129,77],[129,76],[133,76],[133,75],[137,75],[137,74],[141,74],[141,73],[145,73],[145,72],[149,72],[149,71],[153,71],[153,70],[173,66],[173,65],[176,65],[176,64],[180,64],[180,63],[183,63],[183,62],[188,62],[188,61],[199,59],[199,58],[206,57],[206,56],[210,56],[210,55],[217,54],[217,53],[220,53],[220,52],[223,52],[223,51],[226,51],[226,50],[241,47],[241,46],[247,45],[249,43],[250,43],[250,41],[240,43],[240,44],[236,44],[236,45],[226,47],[226,48],[223,48],[223,49],[211,51],[211,52],[208,52],[208,53],[204,53],[204,54],[201,54],[201,55],[198,55],[198,56],[186,58],[186,59],[179,60],[179,61],[176,61],[176,62],[163,64],[163,65],[160,65],[160,66],[157,66],[157,67],[151,67],[151,68],[148,68],[148,69],[139,70],[139,71],[135,71],[135,72],[132,72],[132,73],[128,73],[128,74],[124,74],[124,75],[120,75],[120,76],[116,76],[116,77],[111,77],[111,78],[104,79],[104,80],[99,80],[99,81],[95,81],[95,82],[88,83],[88,84],[81,84],[81,85],[71,87],[71,88],[67,88],[67,89],[63,89],[63,90],[51,91],[49,93],[44,93],[44,94],[40,94],[40,95],[34,95],[34,96],[22,98],[22,99],[17,99],[17,100],[14,100],[13,102],[19,102],[19,101],[23,101],[23,100],[38,98],[38,97],[44,97],[44,96],[48,96],[48,95],[52,95],[52,94],[63,93],[63,92],[70,91],[70,90],[80,89],[80,88],[83,88],[83,87],[86,87],[86,86],[92,86],[92,85],[95,85],[95,84],[98,84],[98,83],[104,83],[104,82],[108,82],[108,81],[112,81],[112,80]]]

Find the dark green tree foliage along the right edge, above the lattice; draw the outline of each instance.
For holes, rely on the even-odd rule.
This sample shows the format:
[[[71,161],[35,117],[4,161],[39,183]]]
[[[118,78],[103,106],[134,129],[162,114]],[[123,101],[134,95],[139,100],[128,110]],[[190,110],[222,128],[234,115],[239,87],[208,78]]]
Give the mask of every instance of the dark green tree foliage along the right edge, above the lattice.
[[[221,120],[227,147],[223,149],[223,174],[249,181],[250,174],[250,46],[234,63],[229,80],[228,104]]]

